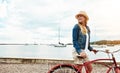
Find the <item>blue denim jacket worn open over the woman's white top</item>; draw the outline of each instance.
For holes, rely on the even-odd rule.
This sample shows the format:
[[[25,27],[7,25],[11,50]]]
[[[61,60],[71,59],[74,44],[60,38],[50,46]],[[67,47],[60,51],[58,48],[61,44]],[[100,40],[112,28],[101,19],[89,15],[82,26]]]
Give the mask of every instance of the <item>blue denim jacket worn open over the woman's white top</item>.
[[[93,48],[90,46],[90,29],[88,26],[87,26],[87,30],[89,36],[88,49],[92,51]],[[73,47],[75,48],[76,52],[80,54],[81,49],[84,50],[86,46],[86,35],[81,32],[81,29],[78,24],[76,24],[73,28],[72,38],[73,38]]]

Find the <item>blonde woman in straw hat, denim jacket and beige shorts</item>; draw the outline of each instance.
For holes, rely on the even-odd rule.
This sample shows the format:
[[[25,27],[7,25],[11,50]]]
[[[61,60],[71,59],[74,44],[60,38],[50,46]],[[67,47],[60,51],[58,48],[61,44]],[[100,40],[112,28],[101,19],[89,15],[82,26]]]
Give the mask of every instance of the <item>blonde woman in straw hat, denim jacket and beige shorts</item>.
[[[85,53],[85,49],[89,49],[94,53],[97,51],[90,46],[90,29],[87,26],[89,17],[87,16],[86,12],[80,11],[75,18],[78,20],[78,23],[74,26],[72,33],[73,47],[75,48],[73,51],[73,58],[76,64],[81,64],[83,60],[89,61],[88,56]],[[87,65],[87,69],[91,73],[92,65]]]

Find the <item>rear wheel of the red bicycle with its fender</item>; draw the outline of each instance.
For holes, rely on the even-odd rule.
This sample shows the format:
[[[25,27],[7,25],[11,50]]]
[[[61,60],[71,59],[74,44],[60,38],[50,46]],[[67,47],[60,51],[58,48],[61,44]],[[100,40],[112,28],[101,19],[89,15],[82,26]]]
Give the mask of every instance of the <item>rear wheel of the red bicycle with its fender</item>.
[[[53,67],[48,73],[79,73],[74,65],[60,64]]]

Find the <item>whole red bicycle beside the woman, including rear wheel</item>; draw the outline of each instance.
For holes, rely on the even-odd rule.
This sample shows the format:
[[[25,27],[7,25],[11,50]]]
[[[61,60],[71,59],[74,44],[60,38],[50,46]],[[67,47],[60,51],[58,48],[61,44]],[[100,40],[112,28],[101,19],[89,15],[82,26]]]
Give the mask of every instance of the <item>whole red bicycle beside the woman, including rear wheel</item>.
[[[103,62],[98,62],[101,65],[104,65],[105,67],[108,68],[106,73],[120,73],[120,66],[117,64],[116,59],[114,57],[114,53],[120,51],[120,49],[110,52],[109,50],[97,50],[97,52],[104,52],[107,53],[108,55],[111,54],[112,58],[105,58],[105,59],[95,59],[95,60],[91,60],[89,62],[83,62],[83,64],[80,64],[80,66],[82,66],[81,68],[84,67],[85,72],[84,73],[89,73],[89,71],[86,68],[87,64],[92,64],[95,63],[97,61],[110,61],[112,62],[112,65],[106,65]],[[78,68],[78,66],[74,65],[74,64],[58,64],[56,66],[54,66],[53,68],[51,68],[48,73],[81,73],[81,68]]]

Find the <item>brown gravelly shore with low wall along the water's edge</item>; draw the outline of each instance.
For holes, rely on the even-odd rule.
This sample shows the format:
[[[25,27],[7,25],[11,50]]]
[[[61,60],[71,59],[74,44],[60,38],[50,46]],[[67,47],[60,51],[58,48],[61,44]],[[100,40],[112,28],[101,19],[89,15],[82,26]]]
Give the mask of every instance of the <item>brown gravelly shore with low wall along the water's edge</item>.
[[[0,73],[47,73],[56,64],[72,63],[73,60],[0,58]],[[92,73],[105,73],[104,66],[93,64]]]

